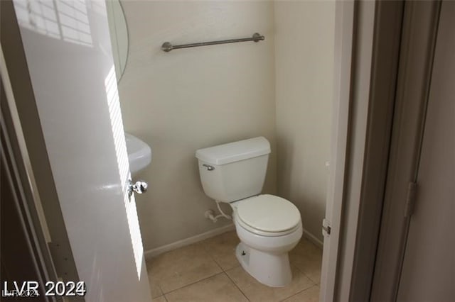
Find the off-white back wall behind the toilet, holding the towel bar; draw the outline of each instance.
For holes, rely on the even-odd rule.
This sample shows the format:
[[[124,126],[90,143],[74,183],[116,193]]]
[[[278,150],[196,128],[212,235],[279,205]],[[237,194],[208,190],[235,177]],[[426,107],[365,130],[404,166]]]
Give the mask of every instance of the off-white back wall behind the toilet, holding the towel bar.
[[[264,192],[274,194],[273,4],[269,1],[123,1],[130,49],[119,93],[125,129],[151,145],[137,196],[145,250],[218,228],[203,213],[195,152],[264,135],[272,144]],[[242,38],[235,43],[163,52],[161,44]]]

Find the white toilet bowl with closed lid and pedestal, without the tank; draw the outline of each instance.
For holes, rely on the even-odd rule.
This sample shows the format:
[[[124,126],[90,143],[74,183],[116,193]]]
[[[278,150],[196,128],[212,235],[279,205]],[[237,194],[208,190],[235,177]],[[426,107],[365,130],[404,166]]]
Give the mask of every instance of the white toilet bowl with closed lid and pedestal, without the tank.
[[[249,200],[252,198],[255,200]],[[288,252],[297,245],[303,233],[299,210],[278,196],[259,195],[252,198],[231,203],[235,230],[240,239],[235,256],[243,269],[262,284],[286,286],[292,280]],[[260,220],[259,215],[262,213],[249,213],[245,208],[239,213],[237,207],[240,206],[242,210],[242,203],[245,205],[245,202],[254,202],[262,208],[262,213],[268,212],[264,217],[272,219]],[[273,202],[278,204],[267,207],[268,203]],[[245,223],[245,220],[255,221],[255,224]]]

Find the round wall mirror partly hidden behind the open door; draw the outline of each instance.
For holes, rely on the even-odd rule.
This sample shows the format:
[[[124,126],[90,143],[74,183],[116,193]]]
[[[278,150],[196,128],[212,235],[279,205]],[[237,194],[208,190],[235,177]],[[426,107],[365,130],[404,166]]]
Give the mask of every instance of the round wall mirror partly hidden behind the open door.
[[[114,56],[115,74],[117,75],[117,82],[119,82],[127,65],[128,58],[129,38],[127,20],[119,0],[107,0],[106,10],[111,35],[112,55]]]

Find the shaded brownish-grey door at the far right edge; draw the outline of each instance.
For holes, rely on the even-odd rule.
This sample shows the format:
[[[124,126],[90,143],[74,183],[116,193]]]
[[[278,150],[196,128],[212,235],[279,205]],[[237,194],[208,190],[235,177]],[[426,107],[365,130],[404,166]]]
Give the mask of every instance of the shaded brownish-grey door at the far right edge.
[[[444,1],[397,301],[455,298],[454,16],[455,2]]]

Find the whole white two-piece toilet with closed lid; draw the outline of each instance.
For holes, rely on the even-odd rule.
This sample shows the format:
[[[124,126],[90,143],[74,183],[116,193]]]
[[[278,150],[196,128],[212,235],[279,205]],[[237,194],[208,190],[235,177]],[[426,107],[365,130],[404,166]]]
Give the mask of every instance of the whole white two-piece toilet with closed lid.
[[[268,286],[285,286],[292,274],[288,252],[302,235],[299,210],[273,195],[259,195],[270,144],[251,138],[196,151],[205,194],[230,203],[240,243],[235,254],[242,267]]]

